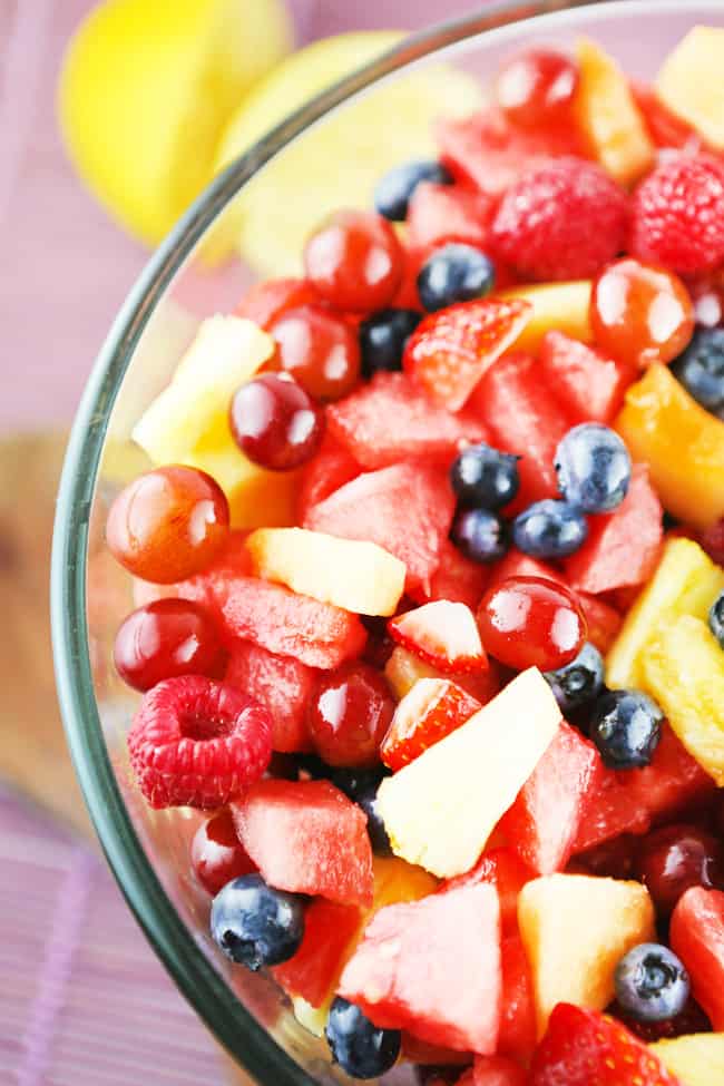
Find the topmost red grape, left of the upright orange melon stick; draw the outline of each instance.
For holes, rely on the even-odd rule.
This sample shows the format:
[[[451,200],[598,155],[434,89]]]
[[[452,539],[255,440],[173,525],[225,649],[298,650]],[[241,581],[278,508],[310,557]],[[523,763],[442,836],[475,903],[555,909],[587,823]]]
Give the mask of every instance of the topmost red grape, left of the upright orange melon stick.
[[[554,49],[527,49],[501,67],[496,98],[522,128],[565,123],[578,86],[574,61]]]

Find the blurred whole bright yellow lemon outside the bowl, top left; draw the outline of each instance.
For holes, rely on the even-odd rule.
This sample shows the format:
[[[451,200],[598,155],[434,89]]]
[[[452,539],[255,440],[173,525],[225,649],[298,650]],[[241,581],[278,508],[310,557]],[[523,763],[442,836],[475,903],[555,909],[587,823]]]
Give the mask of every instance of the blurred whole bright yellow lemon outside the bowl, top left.
[[[156,244],[213,174],[229,115],[291,47],[283,0],[107,0],[65,57],[59,111],[88,187]]]

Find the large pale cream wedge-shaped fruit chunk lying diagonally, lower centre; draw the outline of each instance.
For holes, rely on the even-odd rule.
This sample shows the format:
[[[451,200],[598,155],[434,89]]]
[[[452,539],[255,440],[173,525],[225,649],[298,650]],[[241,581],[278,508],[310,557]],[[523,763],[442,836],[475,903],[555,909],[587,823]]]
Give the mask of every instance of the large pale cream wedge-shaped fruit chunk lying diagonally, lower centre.
[[[560,724],[540,672],[518,675],[378,793],[392,850],[440,878],[469,871]]]

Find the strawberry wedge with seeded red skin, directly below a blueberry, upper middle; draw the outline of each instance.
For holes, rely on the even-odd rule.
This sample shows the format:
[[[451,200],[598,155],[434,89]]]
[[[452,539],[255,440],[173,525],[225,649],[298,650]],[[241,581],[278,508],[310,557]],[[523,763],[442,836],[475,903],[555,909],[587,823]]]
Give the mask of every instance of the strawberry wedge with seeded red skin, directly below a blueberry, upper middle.
[[[431,313],[408,340],[404,370],[439,407],[458,411],[530,320],[522,299],[488,297]]]

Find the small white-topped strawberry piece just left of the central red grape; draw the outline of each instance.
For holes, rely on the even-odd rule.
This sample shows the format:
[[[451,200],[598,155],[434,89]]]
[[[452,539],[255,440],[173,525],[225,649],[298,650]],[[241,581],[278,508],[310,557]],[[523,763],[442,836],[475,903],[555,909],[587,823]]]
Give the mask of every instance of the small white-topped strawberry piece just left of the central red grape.
[[[399,645],[444,674],[488,669],[478,624],[464,604],[434,599],[391,618],[388,630]]]

